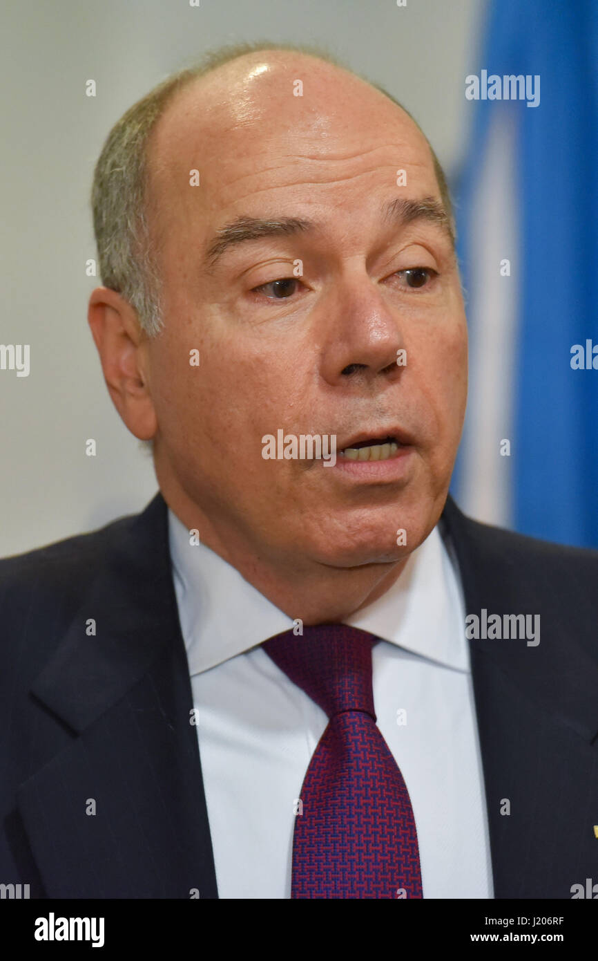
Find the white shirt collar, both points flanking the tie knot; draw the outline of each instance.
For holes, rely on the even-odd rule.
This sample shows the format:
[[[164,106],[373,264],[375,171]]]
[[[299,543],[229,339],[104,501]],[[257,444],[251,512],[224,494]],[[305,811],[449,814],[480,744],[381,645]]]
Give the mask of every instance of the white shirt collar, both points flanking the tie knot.
[[[192,545],[168,511],[179,620],[190,675],[251,650],[289,630],[293,620],[219,554]],[[436,527],[413,551],[393,586],[344,622],[446,667],[468,670],[465,605],[447,534]]]

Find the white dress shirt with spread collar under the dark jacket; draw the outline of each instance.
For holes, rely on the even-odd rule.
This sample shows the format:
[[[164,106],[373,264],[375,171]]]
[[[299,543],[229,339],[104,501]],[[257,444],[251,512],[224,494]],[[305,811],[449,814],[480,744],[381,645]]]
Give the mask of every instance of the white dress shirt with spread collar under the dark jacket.
[[[293,627],[169,510],[170,551],[220,898],[290,898],[295,801],[328,719],[260,645]],[[465,606],[435,528],[346,624],[372,650],[377,726],[405,779],[423,897],[492,898]],[[404,712],[404,713],[401,713]]]

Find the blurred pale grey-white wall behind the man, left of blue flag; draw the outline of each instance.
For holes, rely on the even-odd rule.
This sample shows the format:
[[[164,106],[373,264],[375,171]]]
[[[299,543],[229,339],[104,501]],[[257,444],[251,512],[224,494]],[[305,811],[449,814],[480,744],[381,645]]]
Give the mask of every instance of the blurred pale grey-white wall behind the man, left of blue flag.
[[[0,370],[0,555],[141,509],[151,459],[108,397],[86,325],[99,282],[88,195],[112,124],[204,50],[312,42],[386,86],[449,177],[466,144],[466,74],[484,0],[27,0],[4,5],[0,40],[4,231],[0,343],[30,344],[31,372]],[[88,79],[97,96],[85,96]],[[97,441],[95,457],[84,442]]]

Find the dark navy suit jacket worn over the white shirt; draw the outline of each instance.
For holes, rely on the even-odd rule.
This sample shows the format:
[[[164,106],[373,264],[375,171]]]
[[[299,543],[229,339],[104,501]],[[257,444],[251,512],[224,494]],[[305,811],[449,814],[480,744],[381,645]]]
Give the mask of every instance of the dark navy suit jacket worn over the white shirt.
[[[598,881],[598,553],[477,524],[450,498],[443,518],[466,612],[540,615],[537,647],[469,642],[494,894],[568,899]],[[161,495],[0,561],[0,641],[0,883],[217,898]]]

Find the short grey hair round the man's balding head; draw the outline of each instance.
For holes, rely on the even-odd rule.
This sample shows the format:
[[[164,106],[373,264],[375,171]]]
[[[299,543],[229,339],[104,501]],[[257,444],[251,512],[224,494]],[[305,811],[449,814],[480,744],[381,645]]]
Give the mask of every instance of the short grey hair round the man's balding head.
[[[112,127],[96,163],[91,206],[102,283],[116,290],[132,305],[141,327],[150,336],[159,333],[163,319],[161,281],[149,229],[148,141],[156,121],[180,90],[224,63],[261,50],[288,50],[306,54],[345,69],[353,76],[360,76],[345,63],[314,45],[255,41],[219,47],[208,52],[195,66],[167,77],[133,104]],[[360,79],[370,83],[365,77]],[[383,87],[370,86],[405,110]],[[405,112],[411,116],[409,111]],[[412,120],[417,124],[413,117]],[[434,160],[443,205],[453,224],[454,234],[452,206],[443,168],[427,142]]]

